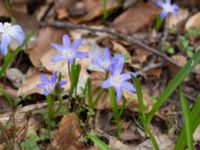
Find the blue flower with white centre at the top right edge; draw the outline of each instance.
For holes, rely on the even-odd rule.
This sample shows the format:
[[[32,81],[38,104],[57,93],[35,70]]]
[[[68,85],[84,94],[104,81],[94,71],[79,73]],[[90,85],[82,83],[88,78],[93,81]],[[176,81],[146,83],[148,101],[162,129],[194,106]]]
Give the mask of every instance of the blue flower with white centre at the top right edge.
[[[156,5],[161,7],[163,11],[160,13],[160,17],[164,19],[168,13],[173,13],[175,16],[177,15],[177,10],[179,10],[179,6],[176,4],[171,4],[171,0],[166,0],[166,2],[162,2],[158,0]]]

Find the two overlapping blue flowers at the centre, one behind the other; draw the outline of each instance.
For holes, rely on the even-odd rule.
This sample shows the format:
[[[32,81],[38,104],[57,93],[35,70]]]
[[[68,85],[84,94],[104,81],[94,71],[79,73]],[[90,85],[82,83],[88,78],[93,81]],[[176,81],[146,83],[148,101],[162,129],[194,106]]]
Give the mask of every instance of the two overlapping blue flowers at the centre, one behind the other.
[[[111,58],[108,48],[105,49],[103,57],[93,52],[93,64],[97,64],[104,71],[109,71],[109,77],[102,83],[102,88],[114,87],[117,93],[117,101],[122,99],[122,89],[136,92],[135,88],[127,80],[131,78],[131,73],[122,73],[124,68],[124,56],[115,55]]]

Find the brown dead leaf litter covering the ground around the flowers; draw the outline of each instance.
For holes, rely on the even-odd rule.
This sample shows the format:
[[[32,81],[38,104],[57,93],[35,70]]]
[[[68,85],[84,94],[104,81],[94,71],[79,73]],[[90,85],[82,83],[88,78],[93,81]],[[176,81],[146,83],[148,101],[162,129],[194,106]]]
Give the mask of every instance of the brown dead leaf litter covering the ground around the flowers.
[[[44,105],[44,107],[36,107],[36,105],[40,103],[41,106],[43,106],[44,102],[44,97],[42,96],[43,91],[36,87],[36,85],[40,83],[40,74],[43,73],[47,76],[51,76],[53,72],[58,70],[63,75],[62,79],[69,81],[67,71],[68,65],[66,61],[60,61],[56,63],[51,62],[51,58],[55,55],[56,51],[50,46],[50,44],[51,42],[61,43],[63,34],[70,35],[73,41],[79,38],[84,39],[84,44],[79,50],[88,52],[89,54],[92,51],[101,52],[105,47],[109,47],[113,54],[125,54],[127,56],[125,69],[133,72],[140,71],[139,78],[142,84],[144,103],[147,106],[147,112],[151,111],[154,101],[156,101],[156,97],[154,96],[156,95],[158,97],[160,95],[167,82],[177,72],[177,68],[174,68],[174,66],[169,64],[165,64],[157,68],[143,71],[144,67],[150,66],[149,62],[151,62],[151,60],[153,60],[153,64],[163,63],[163,60],[157,56],[155,57],[153,53],[147,51],[146,49],[138,47],[138,45],[129,44],[113,35],[111,36],[105,33],[93,33],[90,31],[85,32],[81,29],[39,27],[39,24],[42,19],[46,21],[56,21],[58,19],[63,22],[71,22],[75,24],[84,23],[90,27],[100,29],[104,29],[104,27],[111,27],[117,32],[137,37],[138,39],[142,39],[144,43],[160,49],[157,45],[160,45],[159,42],[162,40],[160,37],[164,35],[164,31],[160,31],[160,33],[153,29],[156,16],[160,13],[160,9],[158,7],[152,3],[138,4],[137,2],[129,4],[130,6],[122,7],[123,5],[117,1],[108,0],[106,10],[109,13],[110,18],[107,21],[103,21],[103,2],[101,0],[81,0],[78,2],[59,0],[47,1],[46,3],[41,3],[38,6],[36,6],[36,4],[33,3],[33,5],[30,7],[28,1],[23,1],[20,3],[16,1],[15,4],[11,3],[13,17],[16,22],[25,28],[26,33],[33,29],[37,33],[32,38],[32,41],[28,43],[29,46],[27,49],[24,49],[24,53],[27,55],[27,57],[22,58],[25,61],[28,59],[28,61],[31,62],[31,65],[27,63],[26,68],[28,69],[24,71],[20,68],[21,64],[19,64],[19,67],[15,67],[15,64],[12,64],[12,67],[8,69],[6,73],[5,80],[3,81],[2,85],[3,87],[9,87],[9,89],[11,89],[10,91],[14,91],[8,92],[13,93],[14,98],[18,96],[30,96],[31,100],[33,100],[33,102],[31,102],[31,100],[25,98],[24,101],[27,102],[21,102],[15,108],[15,115],[17,116],[17,128],[19,131],[17,132],[18,141],[16,141],[16,143],[19,144],[21,141],[23,141],[29,136],[31,131],[35,131],[35,133],[38,134],[41,128],[45,128],[42,114],[46,106]],[[49,7],[51,6],[50,4],[53,4],[52,7]],[[9,18],[9,13],[3,4],[0,5],[0,7],[2,7],[0,9],[0,16],[3,17],[0,18],[0,20],[4,22],[5,18]],[[165,26],[163,27],[163,30],[167,30],[167,32],[169,32],[166,36],[166,39],[169,40],[172,45],[174,43],[174,39],[177,38],[178,35],[176,33],[171,33],[169,31],[170,29],[177,29],[180,34],[183,34],[189,29],[200,28],[198,19],[199,12],[196,12],[194,15],[192,15],[190,10],[186,8],[180,10],[178,13],[181,15],[169,15],[165,22]],[[198,42],[197,39],[198,38],[192,39],[192,42]],[[174,54],[167,55],[180,66],[183,66],[188,60],[186,53],[177,47],[175,48]],[[97,72],[99,69],[97,66],[94,66],[90,63],[90,59],[91,56],[89,59],[80,59],[77,61],[82,67],[80,73],[81,78],[78,85],[78,94],[81,96],[82,89],[86,85],[87,79],[90,77],[92,79],[93,96],[97,97],[99,86],[101,85],[102,80],[105,78],[105,73]],[[195,70],[200,72],[199,65]],[[183,89],[187,94],[190,95],[190,92],[192,91],[192,95],[197,96],[199,94],[197,89],[199,88],[200,77],[199,75],[194,76],[195,77],[189,77],[184,81]],[[197,80],[198,82],[190,82],[191,80]],[[69,87],[70,84],[65,87],[64,92],[68,91]],[[6,89],[9,91],[8,88]],[[151,141],[145,137],[139,123],[139,104],[137,95],[127,91],[124,91],[123,95],[126,98],[126,107],[122,115],[122,132],[119,139],[117,139],[114,135],[116,126],[113,124],[112,107],[109,101],[108,93],[106,92],[103,94],[98,105],[95,106],[96,115],[93,116],[94,125],[91,125],[90,127],[95,127],[93,130],[97,133],[98,137],[106,142],[112,149],[153,149]],[[5,107],[6,109],[8,107],[9,109],[12,109],[6,103],[4,96],[1,97],[1,107]],[[37,103],[33,104],[35,99],[37,99]],[[181,120],[177,119],[177,114],[180,112],[180,106],[177,104],[178,96],[175,95],[169,99],[169,102],[156,113],[156,123],[151,124],[153,134],[158,141],[160,149],[173,149],[176,132],[179,132],[180,129],[177,123],[176,126],[174,125],[171,127],[171,129],[173,128],[174,130],[165,129],[162,131],[162,128],[165,128],[164,124],[173,124],[175,122],[182,124]],[[31,108],[26,110],[25,108],[29,106]],[[121,108],[122,103],[119,103],[118,107]],[[20,111],[23,109],[24,111],[18,112],[18,110]],[[34,109],[38,109],[38,112],[35,112]],[[171,114],[169,113],[171,111],[175,112],[175,114],[172,116],[170,116]],[[5,124],[6,122],[11,121],[11,116],[11,112],[8,113],[5,111],[5,109],[3,109],[0,122]],[[46,147],[43,149],[98,149],[97,146],[92,145],[90,141],[86,141],[84,138],[84,136],[87,134],[85,133],[87,131],[85,131],[83,123],[85,121],[84,117],[84,113],[81,113],[81,117],[78,117],[77,114],[74,113],[64,116],[56,116],[56,123],[59,125],[57,126],[57,129],[52,131],[53,140],[43,141],[44,143],[42,144],[46,145]],[[170,117],[172,117],[171,120],[169,119]],[[162,122],[165,123],[162,124]],[[10,130],[11,129],[12,128],[10,128]],[[173,132],[171,135],[168,133],[170,131]],[[195,144],[199,144],[199,139],[199,129],[197,129],[194,134]],[[41,141],[37,141],[37,143],[41,144]],[[4,147],[4,144],[5,141],[2,141],[1,146]],[[42,144],[40,147],[42,147]]]

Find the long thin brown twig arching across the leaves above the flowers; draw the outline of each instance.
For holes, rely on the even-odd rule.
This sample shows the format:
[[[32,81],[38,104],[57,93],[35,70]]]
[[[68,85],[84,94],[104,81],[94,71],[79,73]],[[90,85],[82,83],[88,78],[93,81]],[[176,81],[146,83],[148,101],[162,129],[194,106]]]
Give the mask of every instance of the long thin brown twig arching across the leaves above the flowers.
[[[110,34],[110,35],[114,35],[114,36],[117,36],[118,38],[120,38],[122,40],[125,40],[125,41],[127,41],[131,44],[136,44],[136,45],[144,48],[145,50],[148,50],[148,51],[154,53],[155,55],[165,59],[168,63],[171,63],[178,68],[183,67],[183,66],[179,65],[178,63],[176,63],[176,61],[174,61],[173,59],[171,59],[167,55],[159,52],[159,50],[156,50],[155,48],[148,46],[147,44],[141,42],[138,39],[135,39],[135,38],[130,37],[128,35],[116,32],[116,31],[109,29],[109,28],[104,28],[104,29],[91,28],[91,27],[87,27],[85,25],[78,25],[78,24],[72,24],[72,23],[61,22],[61,21],[49,21],[49,22],[43,21],[43,22],[40,22],[40,26],[42,26],[42,27],[51,26],[51,27],[65,28],[65,29],[66,28],[68,28],[68,29],[81,29],[81,30],[87,30],[87,31],[90,31],[90,32],[103,32],[103,33],[107,33],[107,34]],[[195,70],[193,71],[193,73],[199,74]]]

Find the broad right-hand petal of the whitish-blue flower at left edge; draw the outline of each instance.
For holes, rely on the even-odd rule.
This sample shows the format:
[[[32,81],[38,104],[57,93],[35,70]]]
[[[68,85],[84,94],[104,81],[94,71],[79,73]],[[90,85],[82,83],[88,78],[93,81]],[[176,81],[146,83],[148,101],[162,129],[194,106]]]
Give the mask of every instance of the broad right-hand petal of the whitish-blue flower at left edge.
[[[9,28],[8,34],[14,38],[15,40],[18,40],[20,44],[23,43],[25,34],[22,28],[19,25],[13,25]]]

